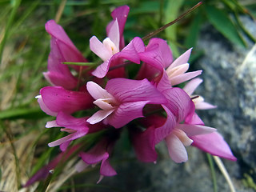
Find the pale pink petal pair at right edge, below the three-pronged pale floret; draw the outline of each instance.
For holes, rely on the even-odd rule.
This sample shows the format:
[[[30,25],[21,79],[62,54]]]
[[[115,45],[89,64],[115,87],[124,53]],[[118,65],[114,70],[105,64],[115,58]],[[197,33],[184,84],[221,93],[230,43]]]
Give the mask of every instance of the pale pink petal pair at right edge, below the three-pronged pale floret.
[[[194,78],[190,82],[186,83],[186,86],[183,87],[183,90],[186,91],[187,94],[190,95],[191,98],[194,98],[195,95],[193,95],[194,90],[202,83],[201,78]],[[198,96],[198,98],[193,99],[194,106],[196,110],[210,110],[214,109],[217,106],[213,106],[208,102],[204,102],[204,98],[202,96]]]

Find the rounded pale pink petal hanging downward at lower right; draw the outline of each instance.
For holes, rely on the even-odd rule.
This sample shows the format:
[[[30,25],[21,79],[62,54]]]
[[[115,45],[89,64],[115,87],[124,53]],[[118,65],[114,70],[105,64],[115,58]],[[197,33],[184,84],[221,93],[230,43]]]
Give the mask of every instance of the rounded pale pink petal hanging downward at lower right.
[[[188,160],[186,148],[175,134],[170,134],[166,138],[166,146],[168,148],[170,158],[174,160],[174,162],[180,163]]]

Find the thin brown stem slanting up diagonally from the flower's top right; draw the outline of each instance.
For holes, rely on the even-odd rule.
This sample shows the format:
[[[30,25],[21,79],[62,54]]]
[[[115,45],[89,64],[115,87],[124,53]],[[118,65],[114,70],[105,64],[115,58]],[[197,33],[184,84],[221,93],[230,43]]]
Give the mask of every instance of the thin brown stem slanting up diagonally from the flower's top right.
[[[165,30],[167,27],[174,25],[174,23],[178,22],[179,20],[181,20],[182,18],[184,18],[187,14],[190,14],[193,10],[195,10],[196,8],[198,8],[198,6],[201,6],[202,2],[198,2],[198,4],[196,4],[195,6],[193,6],[192,8],[190,8],[189,10],[187,10],[184,14],[180,15],[178,18],[176,18],[174,21],[167,23],[164,26],[161,26],[158,30],[154,30],[153,32],[151,32],[150,34],[147,34],[145,37],[142,38],[143,41],[145,41],[146,39],[152,38],[154,37],[154,35],[158,34],[159,32],[161,32],[162,30]]]

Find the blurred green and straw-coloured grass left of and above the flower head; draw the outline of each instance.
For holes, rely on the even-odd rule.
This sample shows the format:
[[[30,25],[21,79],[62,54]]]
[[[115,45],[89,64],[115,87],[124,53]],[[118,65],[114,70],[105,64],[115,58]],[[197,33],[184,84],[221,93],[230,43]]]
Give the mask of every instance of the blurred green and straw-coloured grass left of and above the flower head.
[[[191,2],[182,2],[174,10],[175,13],[180,15],[198,1]],[[217,1],[216,6],[225,5],[223,2]],[[42,72],[47,70],[50,52],[50,37],[44,29],[46,21],[55,19],[64,27],[78,49],[87,58],[92,58],[94,56],[90,54],[89,38],[93,34],[101,40],[106,36],[105,27],[114,7],[127,4],[131,8],[125,31],[128,42],[134,36],[144,37],[157,30],[166,24],[166,18],[173,17],[165,10],[166,3],[164,0],[35,0],[32,3],[28,0],[0,0],[0,190],[18,191],[32,174],[58,154],[58,149],[47,146],[48,142],[58,137],[58,130],[45,129],[46,122],[52,118],[40,110],[34,98],[43,86],[48,86],[42,76]],[[231,7],[234,9],[234,6]],[[241,14],[241,10],[235,11],[236,15]],[[198,19],[197,14],[204,14],[203,8],[175,24],[175,30],[170,28],[158,34],[158,37],[172,42],[176,52],[188,48],[186,45],[181,46],[181,39],[190,42],[189,46],[194,46],[196,41],[191,39],[198,37],[199,30],[188,30],[194,27],[188,28],[185,25],[194,23],[200,26],[202,21],[192,22]],[[253,38],[251,34],[248,36]],[[47,187],[54,191],[64,191],[66,186],[62,184],[74,174],[76,161],[76,158],[72,158],[56,180],[48,180],[39,188],[34,186],[31,191],[44,191]],[[86,184],[84,187],[94,187],[94,184]]]

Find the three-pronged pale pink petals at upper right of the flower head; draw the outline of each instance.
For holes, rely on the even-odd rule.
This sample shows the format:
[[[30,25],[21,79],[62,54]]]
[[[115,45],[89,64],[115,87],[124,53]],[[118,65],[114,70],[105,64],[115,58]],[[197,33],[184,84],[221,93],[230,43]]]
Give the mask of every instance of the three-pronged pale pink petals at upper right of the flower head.
[[[191,78],[195,78],[199,74],[202,74],[202,70],[196,70],[186,73],[190,66],[187,62],[190,58],[191,50],[192,48],[190,50],[187,50],[166,69],[166,73],[168,74],[172,86],[178,85],[182,82],[186,82]]]

